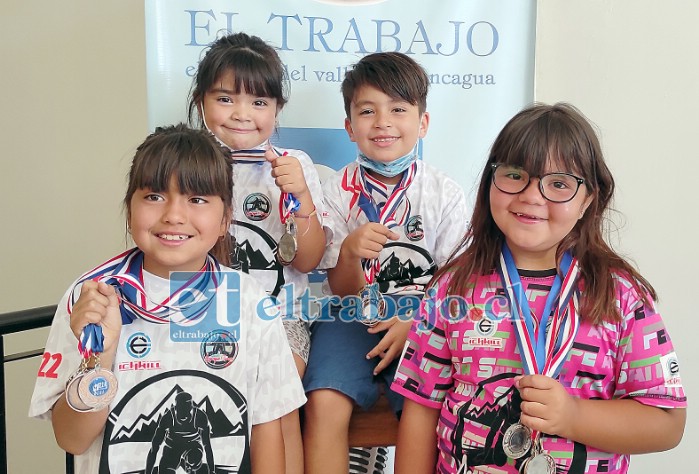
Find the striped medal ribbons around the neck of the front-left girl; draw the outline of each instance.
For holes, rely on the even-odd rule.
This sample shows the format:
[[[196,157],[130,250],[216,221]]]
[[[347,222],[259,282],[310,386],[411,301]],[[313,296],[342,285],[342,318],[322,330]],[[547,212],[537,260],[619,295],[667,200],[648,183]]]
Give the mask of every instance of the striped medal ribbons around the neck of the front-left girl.
[[[150,300],[143,286],[143,252],[134,247],[83,274],[73,286],[67,302],[68,314],[77,301],[76,289],[85,281],[104,282],[113,286],[119,296],[122,324],[130,324],[140,318],[156,324],[170,321],[180,325],[193,325],[205,316],[215,298],[207,293],[216,291],[221,280],[219,263],[210,255],[201,270],[181,272],[177,280],[171,279],[170,294],[161,302]],[[184,275],[185,277],[181,277]],[[104,349],[102,328],[90,323],[78,341],[78,350],[85,358]]]

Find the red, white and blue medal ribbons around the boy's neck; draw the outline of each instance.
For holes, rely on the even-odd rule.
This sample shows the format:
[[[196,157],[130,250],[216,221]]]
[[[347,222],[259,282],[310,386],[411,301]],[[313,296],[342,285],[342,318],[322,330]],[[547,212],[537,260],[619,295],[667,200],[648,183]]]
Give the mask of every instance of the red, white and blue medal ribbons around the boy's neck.
[[[358,177],[359,179],[353,183],[353,186],[355,190],[359,191],[359,193],[356,199],[353,198],[352,202],[356,202],[358,204],[359,209],[364,212],[370,222],[378,222],[379,224],[385,225],[389,229],[396,227],[398,225],[396,222],[396,212],[398,207],[403,203],[408,188],[415,179],[417,163],[413,162],[410,167],[405,170],[403,177],[395,188],[393,188],[393,192],[391,192],[390,196],[388,194],[388,187],[384,183],[376,178],[373,178],[364,171],[364,168],[358,167],[358,169],[359,172],[355,172],[354,178]],[[376,203],[373,197],[373,192],[376,192],[379,196],[386,198],[386,202],[383,204],[383,206]],[[408,206],[403,218],[410,215],[410,203],[408,201],[406,201],[406,203]],[[381,262],[378,258],[363,259],[362,268],[364,269],[364,278],[366,282],[371,284],[374,282],[374,277],[381,270]]]

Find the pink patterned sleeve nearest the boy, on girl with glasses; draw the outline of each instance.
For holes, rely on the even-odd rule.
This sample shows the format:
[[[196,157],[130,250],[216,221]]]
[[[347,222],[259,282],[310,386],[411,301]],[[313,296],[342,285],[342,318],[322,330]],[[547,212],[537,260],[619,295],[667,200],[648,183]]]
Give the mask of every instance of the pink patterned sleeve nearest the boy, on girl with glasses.
[[[439,283],[436,288],[440,288]],[[438,317],[435,304],[443,298],[443,292],[428,288],[391,385],[400,395],[432,408],[441,408],[453,384],[447,322]]]

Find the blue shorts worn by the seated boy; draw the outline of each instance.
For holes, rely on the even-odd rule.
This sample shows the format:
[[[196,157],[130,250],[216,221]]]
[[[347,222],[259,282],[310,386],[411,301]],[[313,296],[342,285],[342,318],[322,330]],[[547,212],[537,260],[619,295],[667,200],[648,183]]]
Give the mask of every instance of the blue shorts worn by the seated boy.
[[[381,360],[367,360],[372,350],[385,335],[370,334],[359,321],[316,321],[311,325],[311,353],[303,377],[306,392],[319,389],[336,390],[368,410],[379,398],[381,384],[393,411],[403,409],[403,397],[390,389],[396,375],[396,357],[385,369],[374,376],[374,368]]]

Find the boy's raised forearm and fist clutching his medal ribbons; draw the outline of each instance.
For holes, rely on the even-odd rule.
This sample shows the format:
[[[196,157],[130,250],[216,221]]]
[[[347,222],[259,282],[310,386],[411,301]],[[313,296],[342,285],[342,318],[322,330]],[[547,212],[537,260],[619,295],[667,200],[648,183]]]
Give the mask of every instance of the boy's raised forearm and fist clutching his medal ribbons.
[[[388,227],[375,222],[350,232],[342,242],[337,264],[328,269],[328,284],[333,294],[356,295],[366,285],[362,259],[378,258],[386,242],[398,238],[399,235]]]

